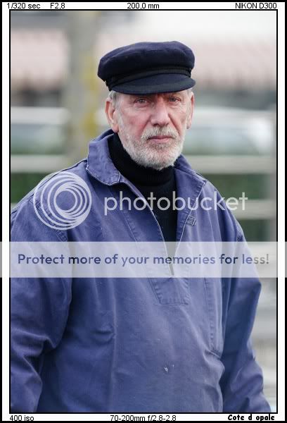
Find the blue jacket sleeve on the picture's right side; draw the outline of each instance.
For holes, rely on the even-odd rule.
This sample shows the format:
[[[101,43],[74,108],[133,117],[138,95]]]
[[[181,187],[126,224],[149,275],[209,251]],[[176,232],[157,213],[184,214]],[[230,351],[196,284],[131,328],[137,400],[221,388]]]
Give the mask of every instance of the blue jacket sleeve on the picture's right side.
[[[245,240],[244,235],[239,240]],[[220,385],[223,412],[270,412],[263,395],[262,370],[255,360],[250,339],[261,283],[257,277],[222,281],[225,371]]]

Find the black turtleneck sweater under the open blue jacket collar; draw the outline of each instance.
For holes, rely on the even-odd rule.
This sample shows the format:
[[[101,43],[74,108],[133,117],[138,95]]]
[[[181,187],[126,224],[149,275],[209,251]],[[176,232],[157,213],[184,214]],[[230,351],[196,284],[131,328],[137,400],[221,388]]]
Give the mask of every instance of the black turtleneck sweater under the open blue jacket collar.
[[[165,241],[174,242],[177,232],[177,210],[172,207],[172,191],[176,193],[177,190],[174,167],[168,166],[158,171],[154,168],[146,168],[136,164],[125,151],[124,147],[122,147],[122,142],[117,134],[110,137],[108,147],[110,157],[117,170],[136,186],[150,205],[151,200],[148,200],[148,197],[153,192],[153,197],[155,197],[152,207],[153,214],[155,214],[155,218],[160,224]],[[160,197],[167,197],[170,200],[170,207],[168,209],[161,210],[158,208],[157,203]],[[167,207],[167,201],[162,200],[160,207]]]

